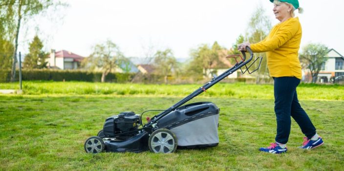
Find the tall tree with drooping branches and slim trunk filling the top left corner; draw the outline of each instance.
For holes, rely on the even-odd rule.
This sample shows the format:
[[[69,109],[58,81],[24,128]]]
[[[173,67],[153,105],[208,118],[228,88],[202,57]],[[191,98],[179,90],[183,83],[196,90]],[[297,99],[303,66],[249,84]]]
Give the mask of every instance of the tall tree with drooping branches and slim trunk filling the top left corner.
[[[1,0],[0,15],[6,19],[7,31],[9,32],[10,42],[14,40],[14,51],[12,56],[11,80],[14,81],[17,63],[18,37],[21,22],[31,19],[48,9],[50,6],[64,5],[54,0]],[[11,28],[11,29],[9,29]],[[14,30],[14,31],[13,31]]]

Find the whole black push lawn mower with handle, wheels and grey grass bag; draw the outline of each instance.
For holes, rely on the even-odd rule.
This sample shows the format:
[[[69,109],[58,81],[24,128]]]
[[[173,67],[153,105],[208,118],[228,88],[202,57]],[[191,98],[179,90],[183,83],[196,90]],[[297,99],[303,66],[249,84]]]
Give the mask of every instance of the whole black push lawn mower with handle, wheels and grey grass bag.
[[[234,58],[236,64],[221,75],[213,75],[214,78],[196,89],[193,93],[161,113],[147,119],[143,124],[142,115],[132,111],[121,112],[118,115],[108,117],[103,129],[97,136],[89,137],[85,142],[87,153],[106,152],[142,152],[151,150],[155,153],[172,153],[177,147],[204,148],[215,147],[219,143],[217,128],[220,109],[212,102],[196,102],[184,105],[194,97],[209,89],[222,79],[226,78],[238,69],[242,73],[249,74],[259,69],[262,57],[258,57],[251,65],[252,50],[247,47],[250,58],[246,60],[245,52],[241,55],[228,55]],[[259,60],[258,67],[249,71],[249,68]],[[241,69],[244,68],[244,71]],[[184,105],[184,106],[182,106]],[[140,126],[142,126],[140,128]]]

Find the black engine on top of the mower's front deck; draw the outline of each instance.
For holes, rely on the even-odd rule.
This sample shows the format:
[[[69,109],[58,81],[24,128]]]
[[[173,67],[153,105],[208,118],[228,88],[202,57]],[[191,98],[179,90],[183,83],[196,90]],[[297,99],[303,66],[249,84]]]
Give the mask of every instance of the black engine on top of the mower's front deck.
[[[119,115],[108,117],[105,120],[103,133],[107,136],[137,130],[140,124],[139,117],[139,115],[132,111],[121,112]],[[131,137],[136,134],[136,132],[127,133],[125,137],[121,138],[126,139],[126,137]]]

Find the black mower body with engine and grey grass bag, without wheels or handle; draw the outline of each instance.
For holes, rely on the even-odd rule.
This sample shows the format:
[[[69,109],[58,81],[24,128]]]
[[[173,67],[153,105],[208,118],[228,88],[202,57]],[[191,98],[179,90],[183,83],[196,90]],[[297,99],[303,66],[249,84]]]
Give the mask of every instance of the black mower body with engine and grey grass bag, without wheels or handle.
[[[116,137],[104,141],[108,152],[142,152],[149,150],[148,139],[153,130],[170,129],[178,140],[178,147],[202,148],[218,145],[219,108],[211,102],[188,104],[171,111],[154,127],[138,129],[138,115],[122,112],[106,119],[105,136]],[[111,136],[112,135],[112,136]],[[116,136],[117,135],[117,136]]]

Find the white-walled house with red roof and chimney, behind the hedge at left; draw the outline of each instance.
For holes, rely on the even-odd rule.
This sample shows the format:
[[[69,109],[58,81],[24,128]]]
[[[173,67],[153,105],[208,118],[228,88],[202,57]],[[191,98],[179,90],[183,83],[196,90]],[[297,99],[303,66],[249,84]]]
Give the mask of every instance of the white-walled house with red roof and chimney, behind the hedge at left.
[[[84,57],[66,50],[51,50],[47,66],[56,69],[78,69]]]

